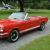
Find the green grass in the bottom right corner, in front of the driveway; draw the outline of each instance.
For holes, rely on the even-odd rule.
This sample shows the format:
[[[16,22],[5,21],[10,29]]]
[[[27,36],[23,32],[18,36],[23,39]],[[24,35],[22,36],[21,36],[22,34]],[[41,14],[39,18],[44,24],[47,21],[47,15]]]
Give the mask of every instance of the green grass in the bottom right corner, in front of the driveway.
[[[50,50],[50,35],[36,39],[18,50]]]

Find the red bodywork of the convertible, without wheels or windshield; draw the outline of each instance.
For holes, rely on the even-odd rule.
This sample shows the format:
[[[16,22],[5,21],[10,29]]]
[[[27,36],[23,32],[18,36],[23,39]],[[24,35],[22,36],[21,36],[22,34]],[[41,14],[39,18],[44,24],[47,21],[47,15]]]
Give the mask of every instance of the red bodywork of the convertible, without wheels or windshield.
[[[29,20],[0,20],[0,27],[3,27],[3,32],[0,31],[0,38],[8,38],[13,29],[18,29],[19,33],[40,27],[42,22],[47,23],[47,17],[29,17]]]

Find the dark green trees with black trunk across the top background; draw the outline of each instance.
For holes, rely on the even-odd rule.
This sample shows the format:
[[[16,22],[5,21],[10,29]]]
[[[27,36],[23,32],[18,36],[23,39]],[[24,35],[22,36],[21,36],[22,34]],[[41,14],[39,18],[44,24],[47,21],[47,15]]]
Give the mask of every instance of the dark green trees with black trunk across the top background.
[[[24,8],[32,8],[32,9],[50,9],[50,0],[0,0],[1,2],[4,1],[5,3],[12,3],[15,7],[14,4],[16,1],[18,1],[19,6],[20,6],[20,11],[23,12]]]

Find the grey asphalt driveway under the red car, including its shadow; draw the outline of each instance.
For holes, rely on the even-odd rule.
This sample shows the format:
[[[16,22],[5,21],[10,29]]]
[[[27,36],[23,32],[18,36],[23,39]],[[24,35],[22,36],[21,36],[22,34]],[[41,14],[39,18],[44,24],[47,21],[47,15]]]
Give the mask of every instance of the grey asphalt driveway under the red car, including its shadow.
[[[17,50],[20,46],[23,46],[30,41],[39,37],[50,34],[50,21],[47,23],[44,31],[32,30],[22,35],[20,39],[15,43],[9,43],[6,40],[0,40],[0,50]]]

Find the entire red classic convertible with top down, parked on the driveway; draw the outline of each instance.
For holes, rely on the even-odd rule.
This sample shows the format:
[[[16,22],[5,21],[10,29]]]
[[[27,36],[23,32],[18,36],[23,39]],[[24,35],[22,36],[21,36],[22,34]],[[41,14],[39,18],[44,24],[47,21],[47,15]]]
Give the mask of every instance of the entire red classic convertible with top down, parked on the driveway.
[[[11,42],[15,42],[23,32],[35,28],[44,30],[47,21],[47,17],[29,17],[25,12],[12,13],[8,19],[0,20],[0,38],[8,38]]]

